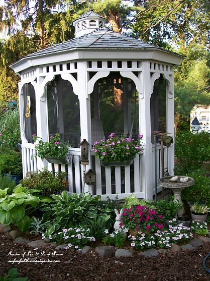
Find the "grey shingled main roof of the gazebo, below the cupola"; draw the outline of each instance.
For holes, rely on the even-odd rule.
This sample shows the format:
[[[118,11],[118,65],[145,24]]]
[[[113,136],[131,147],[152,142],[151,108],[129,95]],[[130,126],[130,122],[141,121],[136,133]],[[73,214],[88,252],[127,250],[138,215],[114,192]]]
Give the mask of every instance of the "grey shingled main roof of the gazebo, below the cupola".
[[[165,52],[179,55],[152,44],[145,43],[133,37],[114,32],[106,27],[98,28],[83,36],[70,39],[46,49],[27,55],[25,58],[33,58],[41,55],[49,55],[72,49],[159,49]],[[182,55],[180,55],[182,57]]]

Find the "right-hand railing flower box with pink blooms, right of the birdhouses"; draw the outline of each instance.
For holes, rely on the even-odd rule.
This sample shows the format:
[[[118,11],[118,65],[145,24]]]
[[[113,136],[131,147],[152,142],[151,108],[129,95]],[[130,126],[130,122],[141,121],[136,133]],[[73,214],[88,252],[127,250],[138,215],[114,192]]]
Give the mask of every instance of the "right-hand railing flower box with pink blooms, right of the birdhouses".
[[[135,155],[143,151],[142,137],[139,135],[138,140],[134,141],[125,135],[111,133],[106,141],[96,141],[93,149],[102,166],[130,165]]]

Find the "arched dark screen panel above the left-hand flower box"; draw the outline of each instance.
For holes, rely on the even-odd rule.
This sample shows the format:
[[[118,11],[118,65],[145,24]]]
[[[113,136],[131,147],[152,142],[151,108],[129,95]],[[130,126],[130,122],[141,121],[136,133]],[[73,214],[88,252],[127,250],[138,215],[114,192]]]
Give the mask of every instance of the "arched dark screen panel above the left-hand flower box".
[[[49,135],[59,133],[72,147],[80,144],[79,99],[60,75],[47,85]]]

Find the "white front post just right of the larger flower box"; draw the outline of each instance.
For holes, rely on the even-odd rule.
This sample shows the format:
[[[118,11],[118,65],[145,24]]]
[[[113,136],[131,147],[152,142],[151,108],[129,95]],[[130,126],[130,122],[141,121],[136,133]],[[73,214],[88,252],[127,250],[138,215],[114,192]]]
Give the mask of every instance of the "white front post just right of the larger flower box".
[[[152,144],[150,120],[150,62],[143,62],[143,71],[139,74],[143,83],[143,98],[139,97],[139,132],[145,143],[141,156],[141,186],[146,199],[152,199]]]

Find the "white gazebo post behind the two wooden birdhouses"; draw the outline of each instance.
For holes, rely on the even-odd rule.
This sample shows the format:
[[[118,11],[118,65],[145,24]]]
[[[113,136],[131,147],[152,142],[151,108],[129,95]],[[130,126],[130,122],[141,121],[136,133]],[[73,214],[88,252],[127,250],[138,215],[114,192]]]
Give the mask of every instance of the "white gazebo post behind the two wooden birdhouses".
[[[90,148],[91,148],[91,129],[90,129],[90,96],[87,91],[87,65],[86,62],[77,62],[77,82],[78,82],[78,98],[80,108],[80,128],[81,142],[85,139],[89,143],[88,160],[86,171],[91,167]],[[83,179],[83,168],[82,179]],[[84,191],[88,191],[88,185],[84,185]]]

